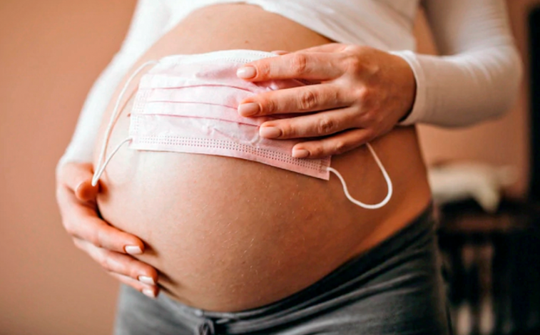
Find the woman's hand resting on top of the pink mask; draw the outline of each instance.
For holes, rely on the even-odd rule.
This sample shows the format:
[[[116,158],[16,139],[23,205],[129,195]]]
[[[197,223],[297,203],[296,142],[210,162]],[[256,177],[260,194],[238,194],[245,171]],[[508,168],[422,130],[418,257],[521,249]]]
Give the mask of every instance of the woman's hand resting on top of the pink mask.
[[[317,84],[260,93],[238,106],[243,116],[298,113],[260,125],[264,138],[317,138],[297,143],[296,158],[322,158],[357,148],[412,109],[416,81],[399,56],[340,43],[263,58],[238,69],[248,81],[307,79]],[[317,112],[317,113],[312,113]]]

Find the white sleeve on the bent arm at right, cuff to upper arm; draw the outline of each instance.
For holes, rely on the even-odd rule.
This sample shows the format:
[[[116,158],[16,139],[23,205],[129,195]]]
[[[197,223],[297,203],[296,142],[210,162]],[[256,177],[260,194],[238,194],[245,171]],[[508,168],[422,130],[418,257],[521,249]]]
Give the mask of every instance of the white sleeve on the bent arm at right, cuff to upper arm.
[[[425,0],[442,56],[394,51],[414,71],[416,100],[401,125],[472,125],[514,103],[522,64],[504,0]]]

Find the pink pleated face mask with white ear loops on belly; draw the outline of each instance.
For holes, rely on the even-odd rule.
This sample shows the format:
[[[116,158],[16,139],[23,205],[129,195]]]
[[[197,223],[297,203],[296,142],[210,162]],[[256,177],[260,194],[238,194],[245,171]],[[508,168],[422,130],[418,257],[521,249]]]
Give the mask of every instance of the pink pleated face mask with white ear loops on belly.
[[[323,180],[330,172],[340,179],[347,198],[360,207],[375,209],[392,197],[392,182],[372,147],[377,165],[388,185],[387,197],[375,205],[352,198],[345,180],[330,168],[330,157],[300,159],[291,155],[300,140],[270,140],[259,136],[259,126],[285,115],[245,118],[238,114],[240,101],[265,91],[304,86],[296,80],[250,83],[236,76],[244,63],[276,56],[274,53],[249,50],[217,51],[198,55],[178,55],[149,61],[140,66],[126,82],[118,96],[105,133],[92,185],[97,182],[113,155],[126,143],[136,150],[199,153],[243,158]],[[119,105],[129,83],[146,66],[154,64],[138,86],[129,137],[108,155],[108,138],[119,113]]]

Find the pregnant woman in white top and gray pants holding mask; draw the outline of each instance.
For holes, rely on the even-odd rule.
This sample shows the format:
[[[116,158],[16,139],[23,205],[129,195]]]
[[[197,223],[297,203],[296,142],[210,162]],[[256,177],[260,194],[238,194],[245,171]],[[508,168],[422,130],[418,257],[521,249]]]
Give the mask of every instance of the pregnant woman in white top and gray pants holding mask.
[[[449,334],[411,125],[501,115],[521,67],[503,0],[423,4],[446,56],[414,0],[139,2],[57,169],[116,334]]]

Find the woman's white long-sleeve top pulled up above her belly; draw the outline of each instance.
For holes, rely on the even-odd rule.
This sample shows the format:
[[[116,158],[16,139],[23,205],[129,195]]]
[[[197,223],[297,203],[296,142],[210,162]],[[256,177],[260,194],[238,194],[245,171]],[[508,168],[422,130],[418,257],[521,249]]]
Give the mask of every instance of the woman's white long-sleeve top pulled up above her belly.
[[[125,41],[94,83],[61,163],[90,162],[103,112],[133,63],[195,9],[256,4],[341,43],[369,45],[404,58],[417,93],[401,123],[472,125],[514,102],[521,59],[504,0],[139,0]],[[414,52],[414,19],[422,2],[442,56]]]

